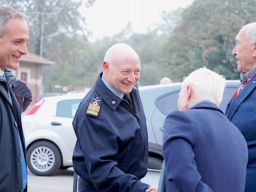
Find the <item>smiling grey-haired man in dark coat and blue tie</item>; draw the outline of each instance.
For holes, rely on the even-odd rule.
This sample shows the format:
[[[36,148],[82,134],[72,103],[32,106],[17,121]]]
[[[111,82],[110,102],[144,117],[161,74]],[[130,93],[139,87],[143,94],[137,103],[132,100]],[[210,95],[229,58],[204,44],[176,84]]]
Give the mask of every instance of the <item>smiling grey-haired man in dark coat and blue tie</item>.
[[[16,78],[5,69],[17,70],[21,56],[28,53],[27,21],[23,13],[0,5],[0,192],[27,191],[20,105],[10,86]]]

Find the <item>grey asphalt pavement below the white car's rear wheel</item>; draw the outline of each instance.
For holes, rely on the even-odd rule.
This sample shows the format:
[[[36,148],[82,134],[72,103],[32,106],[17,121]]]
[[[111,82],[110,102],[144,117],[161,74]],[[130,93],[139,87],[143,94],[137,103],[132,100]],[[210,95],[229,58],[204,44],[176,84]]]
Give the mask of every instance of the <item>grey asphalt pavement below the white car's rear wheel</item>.
[[[73,174],[72,167],[53,176],[37,176],[28,169],[28,192],[72,192]]]

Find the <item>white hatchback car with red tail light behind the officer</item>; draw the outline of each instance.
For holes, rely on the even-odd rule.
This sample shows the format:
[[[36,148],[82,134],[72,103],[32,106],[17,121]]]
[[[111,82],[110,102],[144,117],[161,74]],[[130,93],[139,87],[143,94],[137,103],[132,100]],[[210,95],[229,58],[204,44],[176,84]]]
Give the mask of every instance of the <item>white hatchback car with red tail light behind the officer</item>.
[[[72,121],[85,95],[86,92],[46,97],[23,116],[27,164],[31,172],[48,176],[72,166],[76,143]]]

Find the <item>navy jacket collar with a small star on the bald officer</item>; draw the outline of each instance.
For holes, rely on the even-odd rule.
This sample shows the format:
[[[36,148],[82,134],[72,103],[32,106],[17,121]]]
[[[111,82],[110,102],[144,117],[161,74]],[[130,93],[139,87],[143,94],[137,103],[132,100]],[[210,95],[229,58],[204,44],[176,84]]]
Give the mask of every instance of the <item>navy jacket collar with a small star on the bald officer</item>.
[[[120,102],[124,99],[117,97],[113,92],[111,92],[108,89],[108,87],[101,80],[102,74],[103,72],[100,73],[96,83],[94,84],[95,90],[99,93],[100,97],[102,97],[102,99],[108,104],[110,108],[112,108],[113,110],[116,110]],[[138,88],[135,86],[132,88],[132,91],[134,90],[139,91]]]

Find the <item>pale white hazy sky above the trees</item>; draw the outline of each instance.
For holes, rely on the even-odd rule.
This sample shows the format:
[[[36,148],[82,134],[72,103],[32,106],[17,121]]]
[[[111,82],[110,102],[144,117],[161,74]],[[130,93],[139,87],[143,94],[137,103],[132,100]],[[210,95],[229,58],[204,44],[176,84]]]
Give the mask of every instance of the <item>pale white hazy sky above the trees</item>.
[[[86,0],[84,0],[85,2]],[[193,0],[96,0],[92,7],[79,10],[86,17],[92,38],[113,36],[132,23],[133,32],[146,33],[149,25],[160,20],[159,12],[186,7]]]

